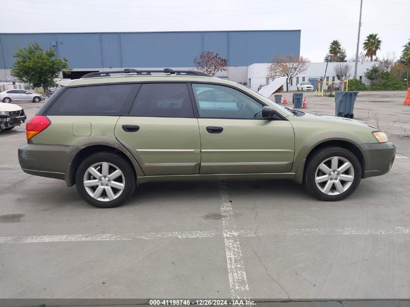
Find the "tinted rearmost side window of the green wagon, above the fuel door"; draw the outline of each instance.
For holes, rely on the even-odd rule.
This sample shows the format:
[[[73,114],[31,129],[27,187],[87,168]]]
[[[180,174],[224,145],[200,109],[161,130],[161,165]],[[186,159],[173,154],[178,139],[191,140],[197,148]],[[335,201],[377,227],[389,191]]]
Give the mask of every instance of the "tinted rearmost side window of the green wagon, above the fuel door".
[[[110,84],[67,88],[47,114],[119,115],[124,103],[134,97],[133,87],[132,84]]]

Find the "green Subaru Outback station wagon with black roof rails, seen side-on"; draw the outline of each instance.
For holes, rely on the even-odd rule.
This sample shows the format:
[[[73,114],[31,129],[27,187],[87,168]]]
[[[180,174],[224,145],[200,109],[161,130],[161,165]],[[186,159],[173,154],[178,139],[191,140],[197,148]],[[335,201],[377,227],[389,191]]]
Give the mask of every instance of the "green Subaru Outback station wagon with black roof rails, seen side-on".
[[[201,72],[126,69],[61,85],[27,122],[18,159],[28,174],[75,184],[99,208],[168,180],[287,178],[341,200],[394,162],[394,145],[375,127],[286,109]]]

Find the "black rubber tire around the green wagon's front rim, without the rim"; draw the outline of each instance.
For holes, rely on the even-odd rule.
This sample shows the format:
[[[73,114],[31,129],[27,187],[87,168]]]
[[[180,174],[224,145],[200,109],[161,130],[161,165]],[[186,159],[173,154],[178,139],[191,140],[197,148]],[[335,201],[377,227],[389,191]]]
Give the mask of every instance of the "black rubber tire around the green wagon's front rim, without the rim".
[[[354,170],[354,178],[353,181],[344,191],[343,193],[331,195],[325,194],[316,185],[315,178],[316,178],[316,170],[318,169],[319,165],[322,162],[326,161],[332,157],[341,157],[346,159],[348,162],[351,163],[353,170]],[[324,173],[323,173],[324,174]],[[361,164],[359,159],[349,150],[344,149],[342,147],[324,147],[320,148],[317,151],[312,153],[312,156],[309,158],[306,164],[305,174],[304,174],[304,183],[305,186],[313,197],[324,200],[324,201],[338,201],[345,199],[346,197],[353,194],[357,187],[359,186],[361,180]],[[339,180],[340,181],[340,180]],[[344,181],[343,181],[344,182]],[[344,182],[345,184],[346,182]],[[335,186],[332,185],[332,189],[335,189]]]

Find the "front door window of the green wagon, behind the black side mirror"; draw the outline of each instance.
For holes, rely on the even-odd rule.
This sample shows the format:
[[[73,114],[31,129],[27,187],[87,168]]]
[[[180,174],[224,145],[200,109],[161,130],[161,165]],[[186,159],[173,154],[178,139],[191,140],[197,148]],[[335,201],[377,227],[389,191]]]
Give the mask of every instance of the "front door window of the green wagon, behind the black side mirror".
[[[263,105],[233,88],[193,83],[199,116],[211,118],[262,118]]]

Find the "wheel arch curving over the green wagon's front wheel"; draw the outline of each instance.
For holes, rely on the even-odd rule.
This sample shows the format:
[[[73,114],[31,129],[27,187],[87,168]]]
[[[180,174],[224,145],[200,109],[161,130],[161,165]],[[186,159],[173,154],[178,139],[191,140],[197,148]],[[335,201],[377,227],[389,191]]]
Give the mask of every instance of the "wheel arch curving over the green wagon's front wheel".
[[[331,140],[323,140],[322,142],[318,142],[312,147],[310,147],[308,150],[306,150],[303,153],[303,157],[300,157],[302,154],[299,152],[299,155],[296,159],[299,159],[298,163],[294,163],[294,166],[296,169],[295,171],[295,181],[298,183],[303,183],[303,178],[305,177],[305,163],[306,161],[309,161],[309,159],[312,157],[312,155],[319,149],[324,148],[324,147],[330,147],[330,146],[338,146],[342,147],[344,149],[349,150],[352,152],[359,160],[360,165],[361,165],[361,178],[363,178],[364,175],[364,169],[365,169],[365,160],[364,160],[364,155],[358,146],[359,144],[352,141],[352,140],[346,140],[346,139],[331,139]],[[302,151],[302,150],[301,150]],[[295,159],[295,161],[296,161]]]

